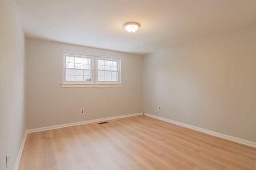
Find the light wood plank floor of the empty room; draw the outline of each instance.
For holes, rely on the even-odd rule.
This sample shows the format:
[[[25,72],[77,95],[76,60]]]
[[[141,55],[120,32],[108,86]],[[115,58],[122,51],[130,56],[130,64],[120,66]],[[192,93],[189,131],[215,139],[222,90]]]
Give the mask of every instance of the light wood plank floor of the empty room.
[[[256,148],[144,115],[29,133],[19,170],[255,170]]]

